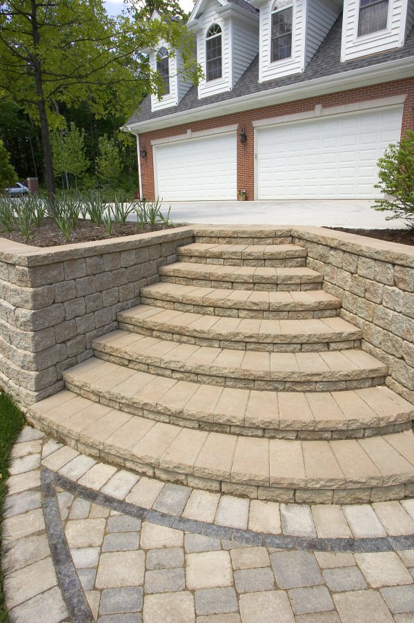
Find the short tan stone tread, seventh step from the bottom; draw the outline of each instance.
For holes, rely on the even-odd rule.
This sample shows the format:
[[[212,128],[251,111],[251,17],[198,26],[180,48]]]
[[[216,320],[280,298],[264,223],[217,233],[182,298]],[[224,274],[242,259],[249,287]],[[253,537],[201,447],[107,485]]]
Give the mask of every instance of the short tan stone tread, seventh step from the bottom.
[[[307,251],[299,245],[217,245],[193,242],[177,249],[178,256],[234,260],[279,260],[305,258]]]

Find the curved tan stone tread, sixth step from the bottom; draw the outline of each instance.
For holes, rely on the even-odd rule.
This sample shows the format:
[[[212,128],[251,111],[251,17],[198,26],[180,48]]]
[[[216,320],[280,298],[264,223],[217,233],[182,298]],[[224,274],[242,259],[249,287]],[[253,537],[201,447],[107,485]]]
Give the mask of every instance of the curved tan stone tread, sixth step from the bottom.
[[[321,283],[322,274],[306,267],[255,267],[175,262],[159,267],[159,275],[242,283]]]

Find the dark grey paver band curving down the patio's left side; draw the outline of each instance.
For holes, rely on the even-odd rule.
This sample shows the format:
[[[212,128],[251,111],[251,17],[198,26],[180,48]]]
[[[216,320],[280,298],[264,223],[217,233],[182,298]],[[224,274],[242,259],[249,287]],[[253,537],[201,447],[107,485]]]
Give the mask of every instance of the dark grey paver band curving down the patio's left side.
[[[92,612],[79,582],[63,531],[56,495],[55,474],[48,469],[41,470],[41,492],[50,553],[70,618],[72,623],[90,623],[94,620]]]

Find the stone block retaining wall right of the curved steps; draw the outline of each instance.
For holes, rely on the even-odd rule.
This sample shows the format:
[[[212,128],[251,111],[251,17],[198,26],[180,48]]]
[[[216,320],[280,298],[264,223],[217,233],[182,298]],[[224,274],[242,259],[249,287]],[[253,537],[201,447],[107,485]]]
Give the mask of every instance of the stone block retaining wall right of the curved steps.
[[[319,227],[293,227],[307,265],[342,300],[362,347],[388,365],[386,385],[414,403],[414,249]]]

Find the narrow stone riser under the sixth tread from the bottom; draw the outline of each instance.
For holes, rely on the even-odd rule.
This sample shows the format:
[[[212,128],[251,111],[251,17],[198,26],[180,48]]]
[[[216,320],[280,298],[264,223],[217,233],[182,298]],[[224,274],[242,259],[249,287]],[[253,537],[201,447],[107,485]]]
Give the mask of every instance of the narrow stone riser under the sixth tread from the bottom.
[[[195,287],[207,287],[207,288],[224,288],[233,290],[257,290],[261,292],[289,292],[289,291],[309,291],[322,289],[322,282],[243,282],[235,280],[210,280],[193,277],[171,277],[167,275],[161,275],[161,281],[168,283],[179,283],[181,285],[193,285]]]

